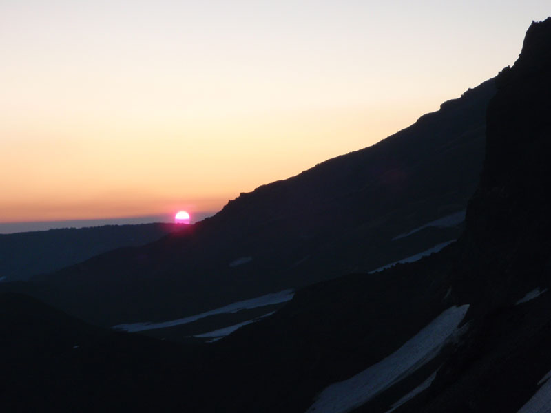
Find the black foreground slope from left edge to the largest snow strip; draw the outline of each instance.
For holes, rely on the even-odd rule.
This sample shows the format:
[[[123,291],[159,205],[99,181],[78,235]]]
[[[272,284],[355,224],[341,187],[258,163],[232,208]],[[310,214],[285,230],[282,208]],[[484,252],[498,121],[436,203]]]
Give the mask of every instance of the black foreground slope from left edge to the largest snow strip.
[[[401,266],[383,279],[312,286],[211,344],[112,332],[0,294],[0,410],[303,412],[325,385],[375,363],[444,308],[433,278],[448,262],[444,251],[414,264],[422,277]]]

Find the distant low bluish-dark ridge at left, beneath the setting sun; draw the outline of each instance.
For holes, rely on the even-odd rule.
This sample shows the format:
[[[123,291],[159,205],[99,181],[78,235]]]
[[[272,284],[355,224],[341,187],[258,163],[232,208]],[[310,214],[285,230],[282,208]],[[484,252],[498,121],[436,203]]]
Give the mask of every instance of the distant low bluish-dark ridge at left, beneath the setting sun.
[[[176,224],[139,224],[0,234],[0,278],[26,280],[114,248],[149,244],[180,229]]]

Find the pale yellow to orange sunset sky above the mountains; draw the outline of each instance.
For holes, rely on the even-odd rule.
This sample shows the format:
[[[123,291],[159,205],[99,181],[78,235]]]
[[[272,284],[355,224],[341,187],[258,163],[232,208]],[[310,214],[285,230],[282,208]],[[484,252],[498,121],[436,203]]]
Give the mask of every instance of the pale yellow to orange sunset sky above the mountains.
[[[0,223],[220,210],[512,65],[545,1],[0,0]]]

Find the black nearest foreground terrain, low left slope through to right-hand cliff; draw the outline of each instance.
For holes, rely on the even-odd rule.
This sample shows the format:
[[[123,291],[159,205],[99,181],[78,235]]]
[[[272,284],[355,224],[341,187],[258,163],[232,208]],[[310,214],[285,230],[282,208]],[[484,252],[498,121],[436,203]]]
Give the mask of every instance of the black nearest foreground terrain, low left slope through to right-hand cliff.
[[[55,402],[57,411],[546,411],[550,91],[551,18],[532,23],[519,59],[497,78],[484,171],[457,242],[413,264],[302,288],[271,317],[220,341],[122,335],[28,297],[0,295],[0,352],[8,354],[0,405],[31,411]],[[189,238],[169,237],[148,248]]]

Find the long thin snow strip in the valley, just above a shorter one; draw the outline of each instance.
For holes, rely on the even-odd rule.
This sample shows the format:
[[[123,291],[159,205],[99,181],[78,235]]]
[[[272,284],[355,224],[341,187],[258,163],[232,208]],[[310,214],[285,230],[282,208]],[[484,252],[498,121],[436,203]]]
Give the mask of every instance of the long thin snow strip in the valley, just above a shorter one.
[[[162,321],[160,323],[131,323],[131,324],[117,324],[112,328],[116,330],[123,330],[127,332],[138,332],[145,330],[155,330],[156,328],[167,328],[173,326],[179,326],[180,324],[187,324],[198,319],[208,317],[209,315],[216,315],[222,313],[237,313],[240,310],[250,310],[251,308],[270,306],[272,304],[280,304],[286,301],[289,301],[295,295],[295,291],[283,290],[279,293],[270,293],[267,295],[262,295],[261,297],[246,299],[245,301],[237,301],[227,306],[220,308],[215,308],[214,310],[209,310],[206,313],[200,313],[196,315],[190,315],[189,317],[184,317],[181,319],[171,320],[171,321]]]

